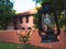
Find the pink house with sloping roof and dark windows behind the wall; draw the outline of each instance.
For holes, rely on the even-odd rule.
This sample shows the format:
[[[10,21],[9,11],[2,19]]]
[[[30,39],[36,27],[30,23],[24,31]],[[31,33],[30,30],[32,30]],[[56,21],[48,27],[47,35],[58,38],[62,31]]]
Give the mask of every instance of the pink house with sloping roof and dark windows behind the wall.
[[[31,29],[34,26],[34,13],[36,9],[31,9],[14,16],[15,22],[9,25],[8,29]]]

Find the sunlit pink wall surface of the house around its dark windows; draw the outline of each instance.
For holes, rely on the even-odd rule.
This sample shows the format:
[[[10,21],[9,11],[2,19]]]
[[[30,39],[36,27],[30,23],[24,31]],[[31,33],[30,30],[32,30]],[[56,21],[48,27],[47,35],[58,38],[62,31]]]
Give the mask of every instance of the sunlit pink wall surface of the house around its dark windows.
[[[24,16],[23,19],[22,19],[22,27],[24,27],[24,28],[28,28],[28,27],[32,27],[34,24],[33,24],[33,16],[31,15],[31,16],[29,16],[29,23],[26,23],[26,17]]]

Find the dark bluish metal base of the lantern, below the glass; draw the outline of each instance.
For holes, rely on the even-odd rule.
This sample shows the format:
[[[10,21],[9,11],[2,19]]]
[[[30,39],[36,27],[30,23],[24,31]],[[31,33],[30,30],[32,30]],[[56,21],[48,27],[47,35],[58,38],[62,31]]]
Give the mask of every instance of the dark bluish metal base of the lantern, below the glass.
[[[56,35],[42,35],[42,41],[41,42],[55,42],[55,41],[59,41],[57,39]]]

